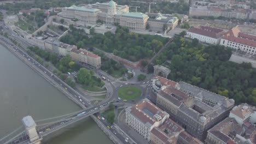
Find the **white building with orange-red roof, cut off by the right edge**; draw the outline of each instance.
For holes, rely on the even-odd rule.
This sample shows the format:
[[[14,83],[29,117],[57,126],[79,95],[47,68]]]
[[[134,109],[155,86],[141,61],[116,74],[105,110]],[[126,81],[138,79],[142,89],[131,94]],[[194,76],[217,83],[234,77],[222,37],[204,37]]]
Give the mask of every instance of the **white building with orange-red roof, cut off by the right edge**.
[[[256,55],[256,36],[242,33],[238,27],[228,31],[220,40],[220,45],[246,52],[248,55]]]

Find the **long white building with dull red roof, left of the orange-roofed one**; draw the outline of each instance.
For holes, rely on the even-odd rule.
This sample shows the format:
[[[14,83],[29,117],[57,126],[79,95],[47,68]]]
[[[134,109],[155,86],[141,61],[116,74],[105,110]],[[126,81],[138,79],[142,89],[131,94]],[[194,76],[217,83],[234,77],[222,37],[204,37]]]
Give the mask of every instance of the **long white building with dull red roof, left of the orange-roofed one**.
[[[219,44],[220,38],[222,38],[224,33],[223,29],[208,26],[197,26],[190,28],[186,37],[191,39],[196,38],[203,43]]]

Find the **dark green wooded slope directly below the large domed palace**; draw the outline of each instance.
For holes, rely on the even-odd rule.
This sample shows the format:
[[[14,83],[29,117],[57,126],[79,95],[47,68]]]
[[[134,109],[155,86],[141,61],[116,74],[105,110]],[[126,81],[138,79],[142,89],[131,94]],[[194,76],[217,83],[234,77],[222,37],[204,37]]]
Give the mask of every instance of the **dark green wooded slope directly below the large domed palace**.
[[[129,33],[128,28],[120,26],[117,27],[115,34],[106,32],[104,35],[94,34],[92,38],[88,38],[83,29],[71,26],[71,32],[60,40],[70,45],[76,44],[78,48],[88,45],[95,46],[135,62],[154,56],[154,53],[167,43],[168,38],[162,38],[159,35]]]

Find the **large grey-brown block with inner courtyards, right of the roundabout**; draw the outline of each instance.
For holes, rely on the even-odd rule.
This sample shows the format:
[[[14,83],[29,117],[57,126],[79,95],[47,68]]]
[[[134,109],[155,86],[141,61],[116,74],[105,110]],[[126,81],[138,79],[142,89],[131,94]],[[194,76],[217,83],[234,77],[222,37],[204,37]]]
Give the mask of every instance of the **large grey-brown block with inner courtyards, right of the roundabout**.
[[[178,82],[162,86],[156,105],[197,139],[204,140],[207,130],[228,117],[235,101],[205,89]]]

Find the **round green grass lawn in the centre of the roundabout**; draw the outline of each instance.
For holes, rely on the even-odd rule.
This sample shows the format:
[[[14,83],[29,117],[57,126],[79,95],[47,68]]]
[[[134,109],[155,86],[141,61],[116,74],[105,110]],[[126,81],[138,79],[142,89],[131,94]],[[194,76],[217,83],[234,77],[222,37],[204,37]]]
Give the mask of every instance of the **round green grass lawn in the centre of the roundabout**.
[[[141,89],[135,86],[124,86],[118,89],[118,97],[125,100],[133,100],[141,97]]]

